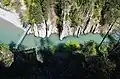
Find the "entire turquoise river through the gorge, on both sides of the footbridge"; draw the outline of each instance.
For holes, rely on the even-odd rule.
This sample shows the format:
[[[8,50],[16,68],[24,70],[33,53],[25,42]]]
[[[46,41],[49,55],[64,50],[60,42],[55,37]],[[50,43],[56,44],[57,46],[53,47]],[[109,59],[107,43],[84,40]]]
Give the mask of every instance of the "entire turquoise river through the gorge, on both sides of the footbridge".
[[[15,25],[3,20],[0,18],[0,41],[4,43],[11,43],[12,41],[17,43],[24,31]],[[35,46],[53,46],[59,43],[66,43],[68,40],[76,40],[80,43],[84,43],[85,41],[94,40],[97,43],[100,43],[102,40],[102,36],[99,34],[86,34],[81,35],[79,38],[68,36],[63,38],[63,40],[59,40],[57,34],[52,34],[49,38],[40,38],[35,37],[34,35],[27,35],[22,42],[22,45],[26,48],[32,48]],[[108,39],[105,39],[105,42],[109,42]]]

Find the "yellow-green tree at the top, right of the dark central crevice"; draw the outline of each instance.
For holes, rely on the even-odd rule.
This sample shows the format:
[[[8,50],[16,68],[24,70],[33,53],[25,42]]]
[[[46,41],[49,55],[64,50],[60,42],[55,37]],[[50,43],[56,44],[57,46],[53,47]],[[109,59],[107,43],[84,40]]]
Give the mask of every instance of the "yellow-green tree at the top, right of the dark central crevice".
[[[89,2],[87,0],[85,0],[85,1],[84,0],[72,1],[69,17],[70,17],[70,21],[71,21],[71,27],[74,27],[74,32],[76,31],[78,26],[82,27],[82,24],[83,24],[84,19],[85,19],[84,11],[85,11],[85,8],[88,4],[89,4]],[[78,30],[78,32],[79,32],[79,30]]]

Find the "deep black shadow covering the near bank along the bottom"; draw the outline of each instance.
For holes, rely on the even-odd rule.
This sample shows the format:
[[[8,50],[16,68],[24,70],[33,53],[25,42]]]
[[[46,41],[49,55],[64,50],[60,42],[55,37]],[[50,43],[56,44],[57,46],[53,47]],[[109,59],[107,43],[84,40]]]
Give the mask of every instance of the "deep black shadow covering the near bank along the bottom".
[[[10,45],[14,47],[13,42]],[[0,65],[1,79],[119,79],[115,74],[120,69],[119,55],[115,55],[118,58],[115,68],[107,57],[85,57],[64,43],[55,47],[54,54],[51,48],[40,48],[38,53],[43,57],[42,63],[36,59],[35,49],[12,51],[13,64],[9,68]],[[117,70],[112,71],[114,68]]]

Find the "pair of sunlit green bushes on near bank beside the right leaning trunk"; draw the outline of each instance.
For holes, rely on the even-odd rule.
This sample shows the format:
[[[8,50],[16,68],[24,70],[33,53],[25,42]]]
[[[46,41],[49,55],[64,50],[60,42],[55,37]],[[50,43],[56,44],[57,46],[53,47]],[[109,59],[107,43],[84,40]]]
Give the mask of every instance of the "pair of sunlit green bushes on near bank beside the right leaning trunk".
[[[108,43],[103,43],[99,49],[98,47],[98,43],[96,43],[95,41],[88,41],[85,43],[84,48],[82,49],[82,53],[85,56],[96,56],[99,54],[102,54],[103,56],[107,56],[108,52],[111,50],[111,48],[113,48],[113,44],[108,44]],[[98,50],[97,50],[98,49]]]

